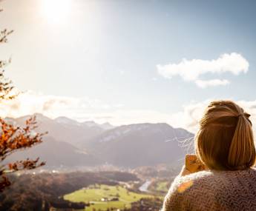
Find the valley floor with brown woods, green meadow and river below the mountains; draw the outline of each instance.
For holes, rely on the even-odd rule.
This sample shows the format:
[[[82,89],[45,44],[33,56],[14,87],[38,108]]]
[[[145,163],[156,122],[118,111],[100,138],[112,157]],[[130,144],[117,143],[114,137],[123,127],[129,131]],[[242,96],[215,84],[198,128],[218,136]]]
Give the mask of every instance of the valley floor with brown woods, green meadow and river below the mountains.
[[[173,177],[142,177],[142,170],[13,175],[13,185],[0,194],[0,210],[157,211],[175,172],[169,174]]]

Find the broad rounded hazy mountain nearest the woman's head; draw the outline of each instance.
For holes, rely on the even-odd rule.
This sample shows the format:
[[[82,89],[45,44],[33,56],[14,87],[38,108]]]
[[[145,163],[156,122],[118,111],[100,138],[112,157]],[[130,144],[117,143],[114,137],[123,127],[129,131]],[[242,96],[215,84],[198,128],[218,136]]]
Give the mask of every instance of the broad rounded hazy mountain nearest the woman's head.
[[[194,135],[168,124],[130,124],[91,138],[86,148],[120,167],[178,164],[187,148],[182,141]]]

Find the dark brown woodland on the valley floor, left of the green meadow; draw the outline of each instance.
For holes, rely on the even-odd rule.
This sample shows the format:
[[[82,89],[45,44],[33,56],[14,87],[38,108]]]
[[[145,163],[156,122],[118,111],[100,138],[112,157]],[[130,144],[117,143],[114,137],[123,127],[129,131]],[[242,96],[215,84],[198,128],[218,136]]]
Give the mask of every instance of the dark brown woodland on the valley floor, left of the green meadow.
[[[97,173],[22,173],[10,175],[12,186],[0,192],[0,211],[49,211],[50,207],[70,208],[82,203],[65,201],[62,195],[88,187],[91,184],[117,185],[119,181],[138,178],[131,173],[97,172]],[[43,208],[42,204],[45,204]],[[84,204],[86,206],[86,204]]]

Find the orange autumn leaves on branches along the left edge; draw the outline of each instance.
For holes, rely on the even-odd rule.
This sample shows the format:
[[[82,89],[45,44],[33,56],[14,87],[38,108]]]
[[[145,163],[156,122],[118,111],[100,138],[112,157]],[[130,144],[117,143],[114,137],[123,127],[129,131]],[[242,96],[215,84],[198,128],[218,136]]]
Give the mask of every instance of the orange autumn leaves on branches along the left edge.
[[[1,12],[1,10],[0,10]],[[7,43],[9,36],[13,30],[0,31],[0,44]],[[1,101],[12,100],[18,94],[13,94],[13,82],[4,76],[4,67],[10,64],[11,59],[0,60],[0,103]],[[24,127],[14,126],[7,123],[4,118],[0,118],[0,192],[10,186],[10,180],[7,173],[13,173],[19,170],[31,170],[41,167],[44,162],[39,163],[39,158],[31,160],[27,158],[24,161],[15,161],[10,164],[4,164],[4,159],[17,150],[23,150],[42,142],[42,135],[45,133],[35,133],[36,118],[33,116],[25,122]]]

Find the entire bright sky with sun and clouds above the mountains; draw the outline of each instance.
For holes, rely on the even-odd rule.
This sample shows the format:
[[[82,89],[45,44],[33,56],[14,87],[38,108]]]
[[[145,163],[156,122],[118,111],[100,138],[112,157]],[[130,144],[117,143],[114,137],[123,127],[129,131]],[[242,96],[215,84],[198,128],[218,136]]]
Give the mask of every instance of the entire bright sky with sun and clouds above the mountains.
[[[256,1],[5,0],[0,58],[22,90],[1,115],[43,113],[196,130],[232,99],[256,120]]]

